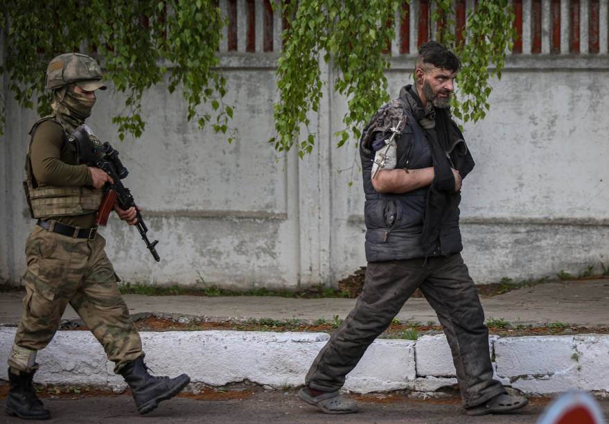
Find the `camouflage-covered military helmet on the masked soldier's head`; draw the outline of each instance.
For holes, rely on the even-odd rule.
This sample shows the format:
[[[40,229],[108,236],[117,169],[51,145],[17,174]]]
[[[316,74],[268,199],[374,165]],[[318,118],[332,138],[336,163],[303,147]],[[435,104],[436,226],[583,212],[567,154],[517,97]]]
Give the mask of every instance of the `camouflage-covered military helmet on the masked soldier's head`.
[[[106,89],[102,73],[93,58],[81,53],[64,53],[49,62],[46,68],[46,88],[58,89],[76,83],[86,91]]]

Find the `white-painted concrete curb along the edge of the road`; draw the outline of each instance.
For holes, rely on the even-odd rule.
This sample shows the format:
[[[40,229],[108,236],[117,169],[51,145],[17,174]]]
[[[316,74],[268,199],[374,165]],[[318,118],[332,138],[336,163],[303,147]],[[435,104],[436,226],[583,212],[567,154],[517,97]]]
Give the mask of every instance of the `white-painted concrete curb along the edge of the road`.
[[[0,363],[6,364],[15,331],[0,328]],[[249,380],[277,388],[302,385],[329,338],[326,333],[221,330],[142,332],[141,337],[146,363],[158,375],[185,372],[193,382],[211,386]],[[489,349],[497,378],[527,393],[609,392],[609,336],[493,336]],[[88,331],[58,331],[37,362],[37,382],[125,387]],[[0,376],[7,377],[6,367]],[[376,340],[348,375],[344,389],[429,392],[456,383],[445,337],[425,335],[416,342]]]

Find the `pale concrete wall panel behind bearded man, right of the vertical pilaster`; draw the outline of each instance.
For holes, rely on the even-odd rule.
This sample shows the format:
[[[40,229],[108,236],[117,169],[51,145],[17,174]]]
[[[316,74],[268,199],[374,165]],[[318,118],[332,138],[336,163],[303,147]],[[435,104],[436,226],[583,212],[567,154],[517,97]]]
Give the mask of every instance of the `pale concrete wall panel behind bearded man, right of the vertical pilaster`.
[[[407,59],[395,62],[388,78],[397,94],[412,69]],[[476,167],[462,190],[463,255],[478,283],[577,274],[609,262],[607,76],[606,55],[511,56],[502,80],[491,81],[491,111],[464,131]],[[345,107],[336,103],[333,130]],[[353,160],[352,148],[333,150],[331,168]],[[331,184],[332,269],[340,278],[354,269],[352,258],[365,264],[364,195],[357,169],[335,174]]]

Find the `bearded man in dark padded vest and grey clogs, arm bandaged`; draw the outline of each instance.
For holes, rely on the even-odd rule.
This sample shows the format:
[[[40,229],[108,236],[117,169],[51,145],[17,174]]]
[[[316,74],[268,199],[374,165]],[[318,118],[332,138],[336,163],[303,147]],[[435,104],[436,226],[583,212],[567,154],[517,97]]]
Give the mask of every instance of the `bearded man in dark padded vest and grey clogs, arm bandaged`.
[[[461,180],[474,161],[450,116],[461,63],[437,42],[421,45],[415,85],[381,107],[360,141],[366,204],[364,288],[321,349],[301,399],[328,414],[357,412],[339,394],[345,376],[417,288],[436,311],[452,351],[467,414],[503,413],[527,398],[493,379],[484,312],[461,258]]]

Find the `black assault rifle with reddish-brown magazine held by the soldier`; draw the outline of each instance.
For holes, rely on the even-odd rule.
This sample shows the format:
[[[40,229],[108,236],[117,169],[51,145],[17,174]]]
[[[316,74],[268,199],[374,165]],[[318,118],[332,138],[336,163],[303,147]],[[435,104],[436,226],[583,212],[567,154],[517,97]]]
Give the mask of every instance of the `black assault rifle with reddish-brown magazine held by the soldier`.
[[[137,210],[131,191],[121,182],[121,179],[129,175],[129,171],[123,166],[121,159],[118,159],[118,151],[107,141],[104,143],[99,141],[87,125],[77,127],[68,141],[76,144],[76,150],[78,151],[81,163],[100,168],[114,180],[114,184],[108,182],[104,186],[105,195],[97,211],[95,223],[105,226],[108,223],[108,217],[112,209],[114,209],[114,205],[117,203],[124,210],[133,206],[136,208],[137,218],[135,227],[139,231],[142,240],[144,240],[146,247],[150,250],[152,257],[159,262],[161,258],[157,253],[157,249],[155,249],[159,240],[153,242],[148,240],[148,236],[146,236],[148,227],[144,224],[141,213]]]

